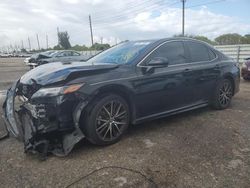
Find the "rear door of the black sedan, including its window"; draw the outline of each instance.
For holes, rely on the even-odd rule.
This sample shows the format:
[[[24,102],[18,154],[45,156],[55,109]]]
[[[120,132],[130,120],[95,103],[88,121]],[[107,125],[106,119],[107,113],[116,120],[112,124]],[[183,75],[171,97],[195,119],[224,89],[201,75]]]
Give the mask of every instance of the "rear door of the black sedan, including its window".
[[[218,58],[213,50],[198,41],[184,41],[189,53],[189,70],[185,77],[192,86],[193,103],[207,102],[220,75]]]

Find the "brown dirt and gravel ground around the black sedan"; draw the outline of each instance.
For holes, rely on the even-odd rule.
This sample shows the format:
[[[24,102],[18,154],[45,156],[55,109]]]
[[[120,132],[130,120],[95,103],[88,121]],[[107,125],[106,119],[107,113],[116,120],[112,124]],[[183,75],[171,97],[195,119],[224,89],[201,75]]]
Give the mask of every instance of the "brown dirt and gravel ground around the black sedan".
[[[2,90],[27,68],[0,61]],[[83,141],[64,158],[40,161],[14,138],[0,141],[0,187],[249,187],[250,82],[240,89],[227,110],[132,126],[117,144]]]

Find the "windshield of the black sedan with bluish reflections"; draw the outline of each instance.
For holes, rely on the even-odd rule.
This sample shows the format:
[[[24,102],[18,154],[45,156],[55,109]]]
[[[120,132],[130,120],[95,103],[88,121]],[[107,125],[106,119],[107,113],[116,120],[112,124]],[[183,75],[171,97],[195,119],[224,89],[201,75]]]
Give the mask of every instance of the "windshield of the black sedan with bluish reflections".
[[[88,62],[127,64],[136,58],[151,42],[125,42],[94,56]]]

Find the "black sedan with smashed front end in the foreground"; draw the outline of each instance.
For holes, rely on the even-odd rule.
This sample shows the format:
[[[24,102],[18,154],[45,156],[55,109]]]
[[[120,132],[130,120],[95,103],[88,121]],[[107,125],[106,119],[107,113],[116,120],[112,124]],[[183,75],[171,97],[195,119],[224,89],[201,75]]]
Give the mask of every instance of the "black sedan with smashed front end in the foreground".
[[[87,62],[51,63],[8,90],[6,127],[25,151],[67,155],[86,137],[117,142],[130,124],[192,109],[225,109],[239,91],[238,65],[188,38],[125,42]]]

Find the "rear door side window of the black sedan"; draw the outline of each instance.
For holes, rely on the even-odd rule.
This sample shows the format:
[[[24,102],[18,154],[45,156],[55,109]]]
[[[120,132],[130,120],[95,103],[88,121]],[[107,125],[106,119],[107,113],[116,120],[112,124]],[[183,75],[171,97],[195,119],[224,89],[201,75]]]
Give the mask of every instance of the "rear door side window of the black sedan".
[[[199,42],[186,41],[192,62],[210,61],[208,48]]]

